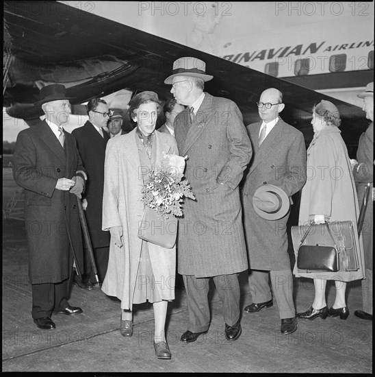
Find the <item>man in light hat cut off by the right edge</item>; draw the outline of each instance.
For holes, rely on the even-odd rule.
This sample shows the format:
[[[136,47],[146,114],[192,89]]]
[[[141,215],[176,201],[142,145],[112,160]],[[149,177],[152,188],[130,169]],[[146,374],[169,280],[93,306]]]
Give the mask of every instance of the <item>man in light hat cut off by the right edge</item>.
[[[370,195],[367,202],[365,219],[362,228],[363,249],[365,251],[365,279],[362,280],[363,311],[354,311],[354,315],[361,319],[372,321],[372,194],[374,184],[374,82],[367,84],[365,91],[357,97],[363,99],[363,111],[371,121],[366,132],[361,134],[357,149],[357,160],[354,161],[353,175],[357,184],[359,203],[363,200],[365,187],[370,184]]]

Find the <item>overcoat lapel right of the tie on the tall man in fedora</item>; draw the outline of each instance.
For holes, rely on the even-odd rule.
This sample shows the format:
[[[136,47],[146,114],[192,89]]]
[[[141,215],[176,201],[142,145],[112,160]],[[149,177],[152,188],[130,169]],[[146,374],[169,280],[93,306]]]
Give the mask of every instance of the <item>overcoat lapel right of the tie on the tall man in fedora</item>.
[[[213,97],[211,95],[205,93],[205,99],[203,99],[201,106],[198,108],[194,121],[186,135],[182,156],[187,154],[190,147],[198,140],[203,130],[207,127],[207,123],[211,119],[212,99]],[[185,111],[187,111],[187,116],[189,117],[189,109],[187,108]]]

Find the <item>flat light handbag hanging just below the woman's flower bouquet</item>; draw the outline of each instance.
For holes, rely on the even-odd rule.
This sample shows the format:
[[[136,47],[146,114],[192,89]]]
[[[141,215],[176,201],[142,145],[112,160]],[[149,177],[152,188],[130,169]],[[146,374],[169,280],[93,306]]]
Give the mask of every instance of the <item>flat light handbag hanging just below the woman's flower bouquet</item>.
[[[153,208],[146,206],[138,228],[138,237],[171,249],[176,243],[177,222],[177,218],[173,215],[168,215],[168,219],[162,219]]]

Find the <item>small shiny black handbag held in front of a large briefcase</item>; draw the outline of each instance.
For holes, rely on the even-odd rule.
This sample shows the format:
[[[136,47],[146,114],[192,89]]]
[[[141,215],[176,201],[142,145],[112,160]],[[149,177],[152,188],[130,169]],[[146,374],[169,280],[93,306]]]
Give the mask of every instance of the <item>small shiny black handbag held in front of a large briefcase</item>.
[[[309,231],[314,225],[314,223],[310,224],[300,241],[297,252],[298,269],[306,269],[307,271],[339,271],[339,251],[335,245],[335,240],[333,239],[328,223],[326,223],[326,226],[333,241],[333,245],[322,245],[319,243],[315,245],[303,245]]]

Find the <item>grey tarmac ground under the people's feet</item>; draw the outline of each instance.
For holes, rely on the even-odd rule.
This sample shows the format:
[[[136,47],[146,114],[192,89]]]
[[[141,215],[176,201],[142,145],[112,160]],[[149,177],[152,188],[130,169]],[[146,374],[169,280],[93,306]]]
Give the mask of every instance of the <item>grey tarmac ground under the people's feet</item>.
[[[5,173],[4,173],[5,171]],[[3,208],[16,190],[3,169]],[[222,307],[214,285],[209,299],[211,325],[194,343],[179,340],[187,330],[185,291],[176,290],[167,315],[170,360],[159,360],[153,349],[153,308],[136,306],[133,337],[120,335],[120,302],[100,287],[73,288],[70,304],[80,306],[76,316],[53,315],[56,328],[40,330],[31,318],[31,286],[27,277],[27,245],[23,221],[3,217],[3,372],[224,372],[224,373],[329,373],[372,374],[372,321],[354,316],[361,310],[361,282],[348,284],[350,315],[313,321],[298,320],[298,329],[281,335],[279,311],[274,306],[259,313],[242,311],[242,335],[224,337]],[[250,304],[246,272],[240,273],[242,309]],[[328,284],[331,306],[335,288]],[[313,282],[294,280],[297,312],[313,300]]]

